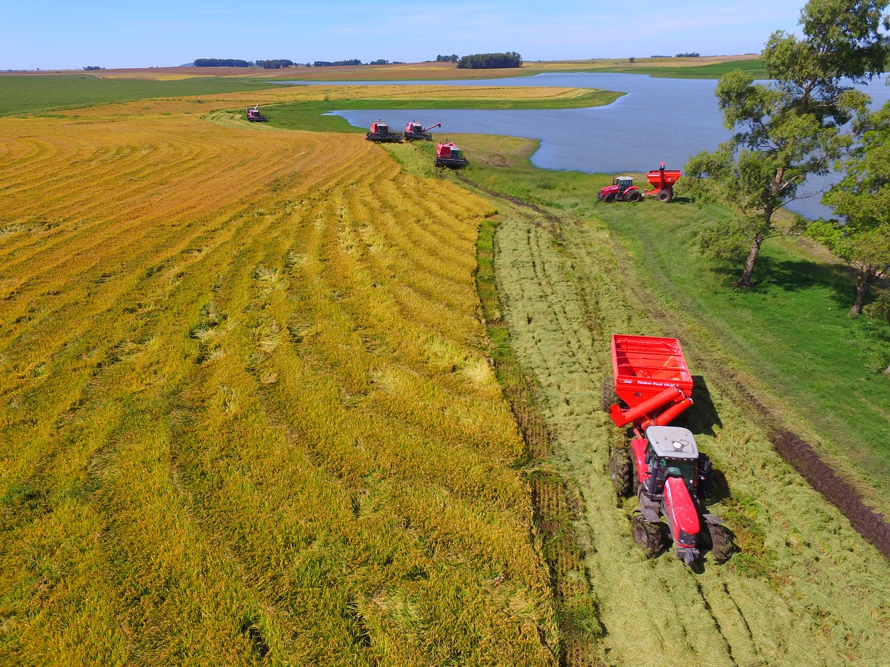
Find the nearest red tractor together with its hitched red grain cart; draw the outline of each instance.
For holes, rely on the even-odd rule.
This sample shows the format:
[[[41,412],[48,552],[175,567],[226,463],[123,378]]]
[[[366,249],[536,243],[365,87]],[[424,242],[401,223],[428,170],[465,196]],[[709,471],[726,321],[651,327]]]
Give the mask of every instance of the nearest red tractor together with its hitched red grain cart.
[[[692,375],[676,338],[613,335],[614,385],[603,382],[603,409],[616,426],[633,424],[630,447],[612,449],[609,473],[619,496],[632,491],[640,510],[631,517],[634,540],[654,558],[667,534],[687,566],[701,550],[723,563],[735,550],[723,521],[703,510],[712,466],[692,431],[668,426],[692,406]],[[611,405],[610,405],[611,404]]]

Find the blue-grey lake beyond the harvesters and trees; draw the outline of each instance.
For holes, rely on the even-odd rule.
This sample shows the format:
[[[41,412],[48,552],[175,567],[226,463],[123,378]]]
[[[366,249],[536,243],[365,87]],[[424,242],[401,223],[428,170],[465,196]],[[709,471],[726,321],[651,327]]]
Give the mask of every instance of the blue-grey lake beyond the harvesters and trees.
[[[283,82],[289,84],[331,82]],[[474,81],[338,82],[352,84],[423,84],[480,86],[557,86],[599,88],[627,94],[605,107],[548,110],[417,109],[334,111],[350,124],[368,127],[383,118],[393,129],[409,120],[424,125],[441,123],[435,139],[451,133],[504,134],[540,141],[532,164],[545,169],[585,173],[647,172],[664,161],[668,169],[682,168],[701,150],[715,150],[731,133],[723,126],[713,79],[668,79],[635,74],[562,73]],[[868,86],[876,106],[890,100],[884,79]],[[471,160],[472,155],[468,155]],[[837,175],[812,179],[789,209],[808,218],[829,216],[819,203],[821,192]]]

